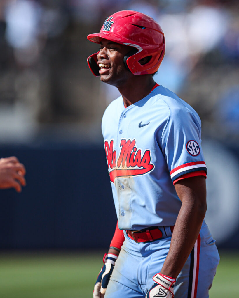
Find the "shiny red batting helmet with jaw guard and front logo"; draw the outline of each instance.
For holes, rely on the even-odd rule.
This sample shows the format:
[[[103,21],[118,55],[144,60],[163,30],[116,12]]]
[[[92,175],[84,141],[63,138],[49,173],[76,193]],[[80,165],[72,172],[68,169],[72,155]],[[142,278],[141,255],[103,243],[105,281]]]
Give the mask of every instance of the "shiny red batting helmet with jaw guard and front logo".
[[[165,39],[159,24],[148,15],[133,10],[122,10],[109,16],[99,33],[89,34],[89,41],[99,44],[105,38],[118,44],[132,46],[133,49],[124,57],[125,66],[134,75],[153,74],[163,60]],[[97,54],[91,55],[88,65],[95,76],[99,76]],[[149,57],[147,63],[140,59]]]

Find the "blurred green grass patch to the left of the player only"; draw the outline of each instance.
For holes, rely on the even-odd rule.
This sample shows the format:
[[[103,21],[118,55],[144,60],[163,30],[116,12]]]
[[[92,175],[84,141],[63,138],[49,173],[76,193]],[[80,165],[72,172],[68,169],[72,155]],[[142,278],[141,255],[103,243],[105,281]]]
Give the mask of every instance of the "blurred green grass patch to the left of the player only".
[[[92,297],[102,255],[0,254],[0,297]]]

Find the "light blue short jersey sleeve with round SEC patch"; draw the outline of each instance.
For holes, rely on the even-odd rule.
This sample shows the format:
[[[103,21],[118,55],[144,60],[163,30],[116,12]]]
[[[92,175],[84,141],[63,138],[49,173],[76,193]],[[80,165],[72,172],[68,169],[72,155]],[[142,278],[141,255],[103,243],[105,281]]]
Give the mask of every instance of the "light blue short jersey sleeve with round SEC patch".
[[[170,110],[161,138],[161,149],[172,181],[187,173],[207,172],[201,148],[201,121],[193,109]]]

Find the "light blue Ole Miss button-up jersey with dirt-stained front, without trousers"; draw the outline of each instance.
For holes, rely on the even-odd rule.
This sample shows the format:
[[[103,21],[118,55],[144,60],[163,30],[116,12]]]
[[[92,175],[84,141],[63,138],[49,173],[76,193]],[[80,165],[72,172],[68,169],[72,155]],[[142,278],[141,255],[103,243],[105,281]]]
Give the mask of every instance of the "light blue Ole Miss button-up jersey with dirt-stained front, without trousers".
[[[173,226],[181,207],[173,181],[206,172],[194,109],[158,86],[127,108],[122,97],[114,100],[102,134],[119,229]]]

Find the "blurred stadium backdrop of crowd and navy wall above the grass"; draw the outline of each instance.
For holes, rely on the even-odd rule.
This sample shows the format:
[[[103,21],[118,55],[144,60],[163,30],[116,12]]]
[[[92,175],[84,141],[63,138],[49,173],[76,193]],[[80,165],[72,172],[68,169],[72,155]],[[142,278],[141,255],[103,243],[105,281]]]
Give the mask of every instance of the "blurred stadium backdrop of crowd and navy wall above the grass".
[[[239,5],[230,0],[1,0],[0,157],[24,163],[21,194],[0,191],[0,249],[109,245],[116,224],[101,117],[118,96],[87,57],[105,18],[132,9],[163,28],[155,76],[196,109],[208,166],[206,221],[239,248]]]

